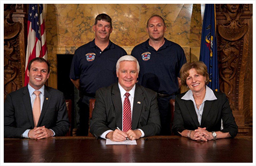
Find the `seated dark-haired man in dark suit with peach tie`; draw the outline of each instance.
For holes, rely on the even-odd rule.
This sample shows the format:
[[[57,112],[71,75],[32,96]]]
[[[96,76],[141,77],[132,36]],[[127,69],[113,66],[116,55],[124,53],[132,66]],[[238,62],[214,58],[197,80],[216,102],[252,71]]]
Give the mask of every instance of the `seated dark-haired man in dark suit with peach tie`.
[[[28,86],[8,94],[4,103],[4,137],[64,136],[69,130],[64,95],[44,85],[50,65],[43,58],[32,59],[27,75]]]

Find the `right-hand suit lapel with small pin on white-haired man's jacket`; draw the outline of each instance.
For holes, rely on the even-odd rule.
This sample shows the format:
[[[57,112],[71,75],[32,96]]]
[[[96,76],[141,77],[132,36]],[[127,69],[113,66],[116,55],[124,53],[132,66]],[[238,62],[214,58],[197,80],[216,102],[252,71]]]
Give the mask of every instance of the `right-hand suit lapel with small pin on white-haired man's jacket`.
[[[131,128],[136,129],[139,123],[139,119],[141,117],[142,105],[144,101],[143,91],[141,87],[136,84],[133,107],[132,107],[132,124]]]

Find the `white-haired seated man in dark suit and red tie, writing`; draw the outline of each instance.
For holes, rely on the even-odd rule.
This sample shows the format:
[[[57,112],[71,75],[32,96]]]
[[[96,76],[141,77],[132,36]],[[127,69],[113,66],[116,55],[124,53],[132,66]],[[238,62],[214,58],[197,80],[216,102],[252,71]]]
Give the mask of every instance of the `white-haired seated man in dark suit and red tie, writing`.
[[[136,84],[139,71],[136,58],[122,56],[116,63],[118,83],[96,91],[90,121],[95,137],[123,141],[159,134],[157,94]]]

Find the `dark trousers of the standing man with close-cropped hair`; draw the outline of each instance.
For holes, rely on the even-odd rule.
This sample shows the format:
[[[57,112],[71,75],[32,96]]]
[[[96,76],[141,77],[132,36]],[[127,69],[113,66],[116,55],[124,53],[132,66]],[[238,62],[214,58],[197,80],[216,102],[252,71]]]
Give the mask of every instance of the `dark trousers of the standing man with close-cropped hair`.
[[[161,121],[160,135],[171,135],[171,99],[175,99],[175,95],[165,98],[157,97]]]

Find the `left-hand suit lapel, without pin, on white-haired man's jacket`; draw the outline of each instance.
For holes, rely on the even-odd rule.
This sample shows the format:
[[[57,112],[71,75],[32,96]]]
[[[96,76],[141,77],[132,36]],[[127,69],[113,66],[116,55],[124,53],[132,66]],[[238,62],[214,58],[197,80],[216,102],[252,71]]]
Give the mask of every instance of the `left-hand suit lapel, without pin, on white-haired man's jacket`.
[[[116,126],[122,130],[123,129],[122,128],[122,119],[123,119],[122,100],[121,100],[121,93],[117,83],[113,85],[111,98],[114,105]]]

